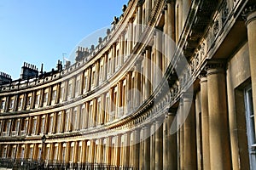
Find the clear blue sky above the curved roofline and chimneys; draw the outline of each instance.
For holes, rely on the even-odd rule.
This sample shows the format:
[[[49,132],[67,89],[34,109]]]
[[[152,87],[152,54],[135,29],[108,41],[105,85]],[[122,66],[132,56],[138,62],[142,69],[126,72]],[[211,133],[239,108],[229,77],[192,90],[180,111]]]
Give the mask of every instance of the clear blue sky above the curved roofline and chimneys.
[[[122,6],[127,3],[128,0],[1,0],[0,71],[17,79],[25,61],[37,65],[38,70],[44,63],[44,71],[50,71],[58,59],[62,60],[62,54],[69,58],[84,37],[110,26],[113,16],[122,14]]]

